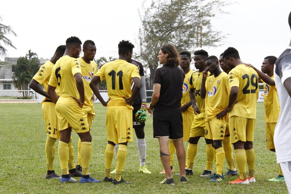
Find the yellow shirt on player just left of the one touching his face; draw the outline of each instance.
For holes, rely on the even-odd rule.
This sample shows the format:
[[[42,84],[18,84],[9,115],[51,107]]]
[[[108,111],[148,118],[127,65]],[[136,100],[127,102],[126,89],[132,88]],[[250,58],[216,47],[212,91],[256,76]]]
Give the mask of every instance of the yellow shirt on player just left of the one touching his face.
[[[210,72],[208,72],[207,78],[210,75]],[[199,108],[200,114],[195,115],[195,118],[205,118],[205,99],[202,99],[200,96],[200,89],[202,85],[202,77],[203,74],[202,72],[194,72],[191,75],[189,87],[194,88],[195,90],[195,99],[196,99],[196,104]],[[206,78],[206,80],[207,80]]]

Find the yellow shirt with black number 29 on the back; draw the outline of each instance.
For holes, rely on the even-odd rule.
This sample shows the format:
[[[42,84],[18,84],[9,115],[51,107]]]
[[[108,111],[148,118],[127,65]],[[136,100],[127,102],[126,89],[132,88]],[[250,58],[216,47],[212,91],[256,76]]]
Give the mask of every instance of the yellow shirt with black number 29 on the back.
[[[246,65],[237,65],[229,72],[229,88],[239,88],[237,103],[229,112],[229,117],[236,115],[256,119],[256,106],[259,92],[258,73]]]

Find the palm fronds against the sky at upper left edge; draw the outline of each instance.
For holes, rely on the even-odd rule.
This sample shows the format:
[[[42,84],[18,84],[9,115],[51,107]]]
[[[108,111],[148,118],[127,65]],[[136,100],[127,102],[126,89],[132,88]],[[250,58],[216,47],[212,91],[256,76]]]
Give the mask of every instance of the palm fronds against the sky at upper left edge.
[[[0,15],[0,20],[2,21],[2,15]],[[15,32],[13,32],[11,26],[0,23],[0,58],[6,56],[7,49],[5,46],[10,46],[16,49],[11,40],[6,37],[8,34],[17,36]]]

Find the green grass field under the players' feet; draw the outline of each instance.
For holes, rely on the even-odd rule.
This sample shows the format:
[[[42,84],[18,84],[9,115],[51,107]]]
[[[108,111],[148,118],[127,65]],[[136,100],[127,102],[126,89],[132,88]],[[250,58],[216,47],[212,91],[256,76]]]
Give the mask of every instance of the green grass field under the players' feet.
[[[61,184],[59,179],[46,180],[45,126],[41,104],[0,104],[0,193],[288,193],[284,182],[267,182],[278,175],[276,154],[266,149],[264,105],[258,103],[254,149],[256,152],[256,182],[250,185],[231,185],[237,177],[226,177],[219,183],[210,183],[199,175],[205,168],[205,141],[200,139],[193,168],[193,176],[187,177],[187,184],[180,184],[174,176],[175,186],[159,184],[165,178],[159,172],[163,169],[159,158],[158,139],[152,137],[152,118],[146,122],[147,158],[146,166],[152,174],[139,173],[139,154],[134,142],[129,143],[123,178],[132,184],[112,183]],[[95,104],[95,120],[91,130],[92,159],[91,176],[104,178],[104,151],[107,144],[105,115],[106,108]],[[75,161],[78,137],[72,132]],[[187,143],[184,142],[185,147]],[[60,175],[56,143],[55,171]],[[187,147],[186,147],[187,148]],[[112,164],[114,169],[116,162]],[[214,166],[214,165],[213,165]],[[224,162],[224,172],[227,169]],[[213,169],[214,170],[214,167]],[[179,172],[178,161],[174,158],[174,171]]]

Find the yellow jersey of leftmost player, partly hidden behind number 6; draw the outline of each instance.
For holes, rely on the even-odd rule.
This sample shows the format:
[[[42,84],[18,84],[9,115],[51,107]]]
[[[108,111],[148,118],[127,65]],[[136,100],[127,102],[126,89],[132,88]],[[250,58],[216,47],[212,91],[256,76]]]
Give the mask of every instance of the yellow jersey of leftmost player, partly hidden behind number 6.
[[[38,72],[33,76],[32,79],[37,81],[40,85],[43,86],[43,89],[45,89],[45,92],[48,92],[48,85],[49,85],[49,79],[51,78],[52,75],[52,68],[54,67],[55,64],[53,64],[51,61],[45,62],[42,66],[40,66]],[[60,95],[60,89],[57,87],[55,89],[55,92],[57,95]],[[42,102],[47,100],[48,98],[45,97]]]

